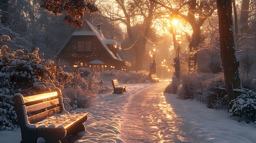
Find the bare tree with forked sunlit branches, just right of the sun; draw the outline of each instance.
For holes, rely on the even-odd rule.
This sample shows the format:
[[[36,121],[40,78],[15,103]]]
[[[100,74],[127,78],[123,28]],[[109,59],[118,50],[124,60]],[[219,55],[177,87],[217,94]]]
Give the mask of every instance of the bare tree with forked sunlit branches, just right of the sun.
[[[180,16],[189,24],[193,29],[192,36],[189,40],[189,73],[192,73],[197,70],[197,53],[198,46],[204,41],[202,37],[201,27],[204,24],[204,21],[207,20],[213,12],[216,10],[216,1],[215,0],[188,0],[184,3],[180,3],[180,7],[173,9],[168,6],[170,3],[164,4],[160,3],[157,0],[151,0],[157,4],[160,4],[162,7],[165,7],[173,15]],[[188,11],[187,14],[184,14],[184,11]]]

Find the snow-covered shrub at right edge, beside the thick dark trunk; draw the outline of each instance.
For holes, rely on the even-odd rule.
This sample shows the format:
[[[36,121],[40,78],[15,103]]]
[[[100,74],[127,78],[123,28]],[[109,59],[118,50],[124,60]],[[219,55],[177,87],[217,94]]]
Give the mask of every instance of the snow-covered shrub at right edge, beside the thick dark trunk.
[[[249,89],[243,89],[243,92],[236,99],[231,100],[229,106],[229,117],[245,117],[249,121],[256,121],[256,93]]]

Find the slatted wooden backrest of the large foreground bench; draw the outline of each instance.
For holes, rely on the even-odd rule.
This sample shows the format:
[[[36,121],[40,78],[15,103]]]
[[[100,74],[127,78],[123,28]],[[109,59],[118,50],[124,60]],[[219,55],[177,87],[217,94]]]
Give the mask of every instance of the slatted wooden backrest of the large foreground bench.
[[[54,113],[65,110],[61,90],[55,88],[52,92],[24,97],[20,93],[14,95],[14,110],[21,124],[34,123]]]

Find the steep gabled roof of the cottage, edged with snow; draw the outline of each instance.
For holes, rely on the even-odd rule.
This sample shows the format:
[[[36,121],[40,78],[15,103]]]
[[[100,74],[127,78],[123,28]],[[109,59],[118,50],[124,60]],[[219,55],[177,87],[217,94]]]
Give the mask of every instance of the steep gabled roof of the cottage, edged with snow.
[[[66,44],[70,41],[71,37],[83,36],[83,35],[96,36],[99,39],[99,41],[101,42],[102,46],[106,49],[106,51],[108,51],[109,55],[113,59],[123,61],[123,59],[121,59],[121,57],[118,54],[117,54],[117,56],[115,56],[107,46],[107,44],[115,44],[116,46],[120,46],[120,43],[117,43],[115,40],[107,40],[104,37],[104,35],[101,33],[101,30],[100,29],[98,30],[97,27],[94,26],[92,23],[90,23],[88,20],[85,20],[85,22],[83,22],[83,25],[81,27],[77,28],[74,33],[72,33],[69,40],[61,48],[61,50],[57,53],[57,55],[63,50],[63,48],[66,46]]]

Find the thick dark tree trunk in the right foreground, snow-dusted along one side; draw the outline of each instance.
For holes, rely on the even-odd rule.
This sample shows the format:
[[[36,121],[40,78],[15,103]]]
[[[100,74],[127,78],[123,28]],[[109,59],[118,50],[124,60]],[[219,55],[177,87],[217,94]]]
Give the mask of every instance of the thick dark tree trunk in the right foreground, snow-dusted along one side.
[[[233,89],[242,89],[239,57],[232,22],[232,0],[217,0],[220,30],[220,57],[225,77],[225,84],[229,101],[236,99],[241,92]]]

